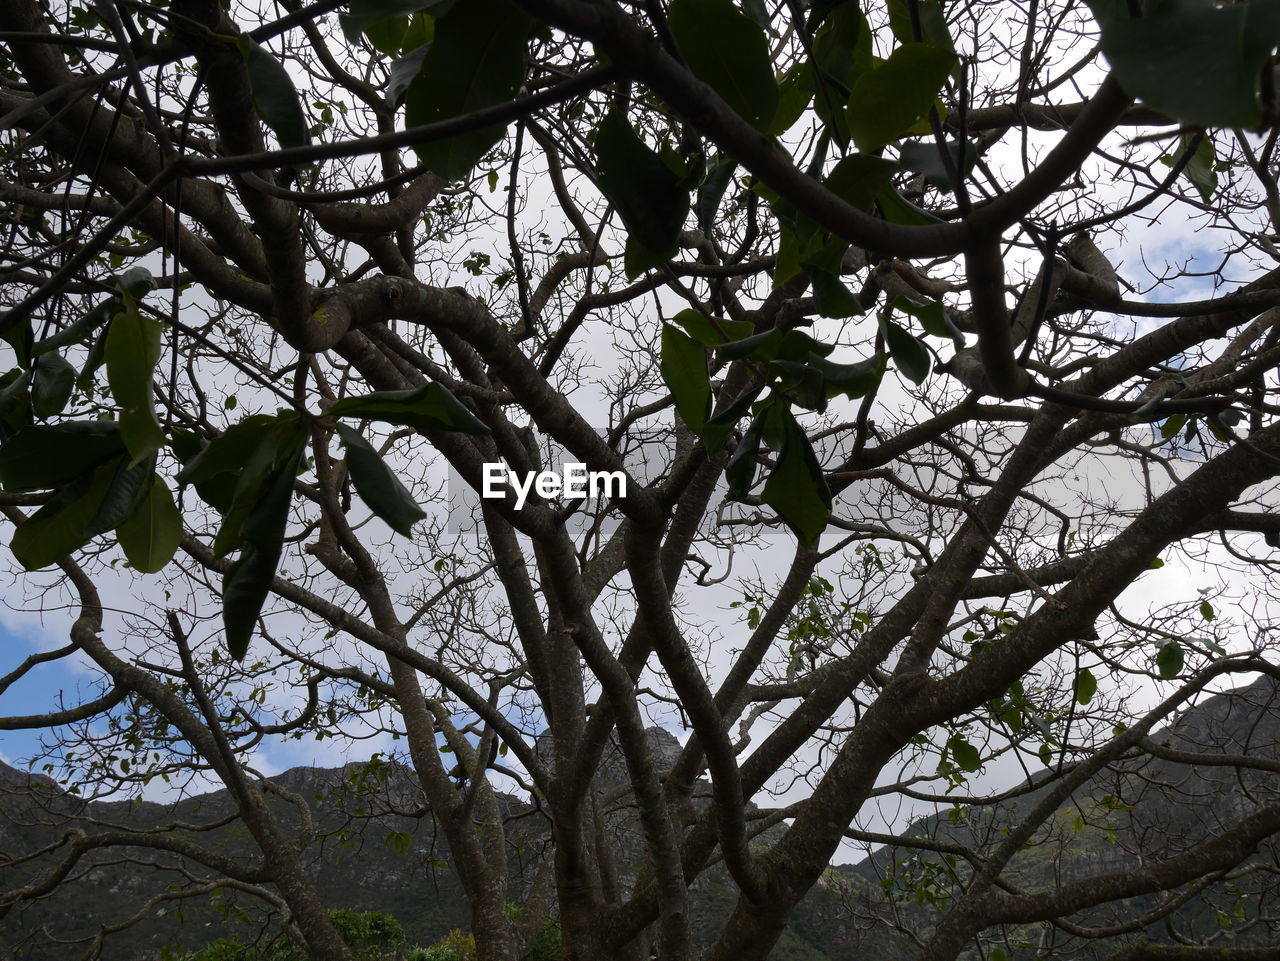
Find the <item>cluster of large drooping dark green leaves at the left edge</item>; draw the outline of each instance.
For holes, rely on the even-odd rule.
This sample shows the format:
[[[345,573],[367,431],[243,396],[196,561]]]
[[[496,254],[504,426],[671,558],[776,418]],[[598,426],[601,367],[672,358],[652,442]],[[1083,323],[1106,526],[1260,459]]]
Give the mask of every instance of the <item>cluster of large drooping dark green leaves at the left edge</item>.
[[[138,307],[138,298],[152,287],[151,275],[134,269],[119,278],[113,296],[54,337],[36,342],[29,324],[9,331],[6,339],[22,366],[5,375],[0,392],[0,485],[6,491],[52,491],[17,526],[10,546],[19,563],[33,571],[114,531],[132,567],[160,571],[183,532],[169,485],[156,472],[160,450],[172,447],[183,465],[178,484],[193,486],[223,516],[215,555],[237,553],[223,578],[223,623],[228,650],[239,659],[279,566],[294,481],[307,468],[307,444],[316,427],[333,426],[356,491],[403,536],[425,513],[378,450],[342,421],[420,431],[488,429],[433,383],[417,390],[344,398],[324,421],[285,409],[244,417],[212,440],[180,427],[166,430],[154,403],[163,325]],[[59,348],[90,339],[77,375]],[[104,365],[114,417],[101,411],[92,420],[40,422],[60,415],[77,386],[91,392]]]

